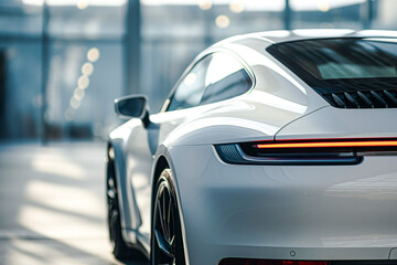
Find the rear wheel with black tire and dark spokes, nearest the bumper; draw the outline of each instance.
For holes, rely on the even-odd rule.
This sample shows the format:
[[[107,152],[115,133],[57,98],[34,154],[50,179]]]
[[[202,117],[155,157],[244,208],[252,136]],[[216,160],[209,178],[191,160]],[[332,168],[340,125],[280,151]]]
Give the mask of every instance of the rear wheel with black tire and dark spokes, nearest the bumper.
[[[153,199],[150,263],[185,265],[178,200],[170,169],[161,172]]]

